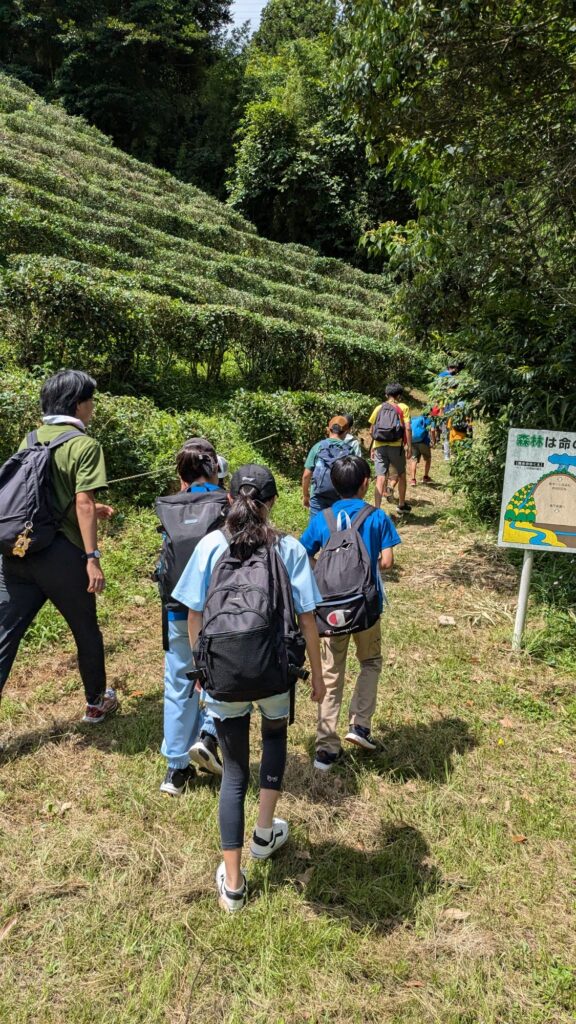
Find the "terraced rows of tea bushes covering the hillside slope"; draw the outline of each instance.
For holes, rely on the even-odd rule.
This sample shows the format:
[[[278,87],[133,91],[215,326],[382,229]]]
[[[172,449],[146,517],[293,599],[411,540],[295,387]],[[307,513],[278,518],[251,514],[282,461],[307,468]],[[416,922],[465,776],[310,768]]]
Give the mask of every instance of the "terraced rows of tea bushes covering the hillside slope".
[[[123,390],[175,364],[217,383],[373,389],[415,380],[381,278],[259,238],[236,212],[115,150],[0,76],[0,337],[19,366]]]

